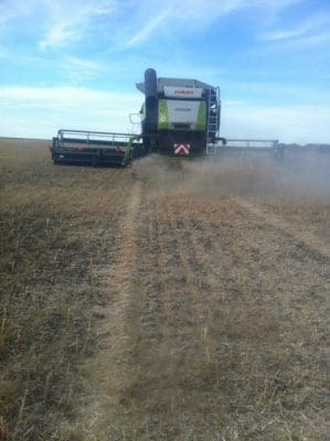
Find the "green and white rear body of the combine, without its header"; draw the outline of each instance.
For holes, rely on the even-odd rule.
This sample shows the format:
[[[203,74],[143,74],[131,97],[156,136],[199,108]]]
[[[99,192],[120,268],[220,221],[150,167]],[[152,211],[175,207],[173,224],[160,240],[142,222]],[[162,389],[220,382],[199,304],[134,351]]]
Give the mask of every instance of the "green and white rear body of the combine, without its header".
[[[137,88],[145,94],[141,129],[147,151],[169,155],[203,155],[217,138],[221,117],[219,87],[189,78],[157,78],[145,72]]]

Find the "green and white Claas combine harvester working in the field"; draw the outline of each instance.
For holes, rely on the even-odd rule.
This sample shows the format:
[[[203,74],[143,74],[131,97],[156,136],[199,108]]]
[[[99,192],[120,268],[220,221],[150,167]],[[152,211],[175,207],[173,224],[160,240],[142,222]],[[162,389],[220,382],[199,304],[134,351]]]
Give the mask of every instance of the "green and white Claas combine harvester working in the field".
[[[231,148],[230,140],[219,136],[219,87],[196,79],[157,78],[152,68],[136,86],[145,95],[139,135],[58,130],[51,148],[54,163],[125,166],[151,152],[205,157]]]

